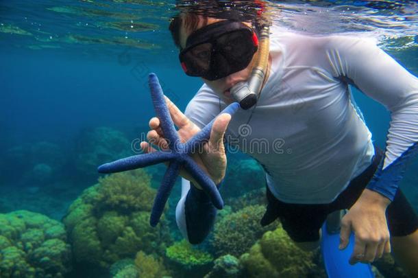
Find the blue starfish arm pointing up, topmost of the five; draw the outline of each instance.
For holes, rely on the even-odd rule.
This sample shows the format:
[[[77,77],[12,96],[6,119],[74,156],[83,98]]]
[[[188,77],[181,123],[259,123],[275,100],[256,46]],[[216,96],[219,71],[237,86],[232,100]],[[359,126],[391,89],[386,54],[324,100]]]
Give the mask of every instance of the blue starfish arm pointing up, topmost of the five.
[[[180,142],[180,138],[177,135],[177,130],[174,128],[173,119],[171,119],[169,108],[164,100],[164,93],[155,73],[149,74],[148,81],[153,106],[158,119],[160,119],[162,132],[164,133],[164,137],[169,141],[169,148],[173,150],[175,143]]]

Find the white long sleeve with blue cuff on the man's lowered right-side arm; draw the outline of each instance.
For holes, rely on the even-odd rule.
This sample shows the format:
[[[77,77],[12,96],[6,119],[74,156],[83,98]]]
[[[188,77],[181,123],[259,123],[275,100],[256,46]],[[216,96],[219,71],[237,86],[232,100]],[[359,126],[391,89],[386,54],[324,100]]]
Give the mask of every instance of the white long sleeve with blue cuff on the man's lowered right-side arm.
[[[332,38],[327,56],[334,77],[350,80],[391,112],[384,162],[367,188],[393,200],[406,160],[417,149],[418,79],[368,40]],[[388,173],[384,174],[386,170]]]

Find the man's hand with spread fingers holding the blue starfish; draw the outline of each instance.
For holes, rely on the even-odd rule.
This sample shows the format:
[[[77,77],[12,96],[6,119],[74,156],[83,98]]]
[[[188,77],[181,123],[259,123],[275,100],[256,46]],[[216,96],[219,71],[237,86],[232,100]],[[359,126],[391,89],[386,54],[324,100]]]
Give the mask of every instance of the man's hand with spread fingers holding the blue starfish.
[[[188,119],[168,97],[165,97],[165,100],[169,108],[171,119],[173,119],[175,126],[178,128],[177,132],[180,140],[184,143],[199,132],[200,128],[193,124],[193,122],[190,121],[190,119]],[[212,178],[212,181],[214,181],[215,184],[219,184],[225,176],[226,155],[225,148],[223,147],[223,135],[225,135],[225,130],[228,128],[230,120],[231,115],[227,113],[219,115],[212,126],[208,143],[204,144],[202,150],[196,150],[195,154],[192,156],[193,160],[195,160],[201,169]],[[156,150],[151,144],[158,146],[158,148],[163,150],[167,150],[168,143],[167,139],[165,139],[162,134],[160,119],[157,117],[151,118],[149,121],[149,128],[151,128],[147,134],[149,143],[145,141],[140,143],[140,147],[143,151],[155,152]],[[192,181],[196,187],[201,189],[186,170],[180,170],[180,175],[189,181]]]

